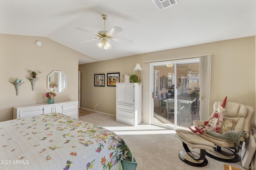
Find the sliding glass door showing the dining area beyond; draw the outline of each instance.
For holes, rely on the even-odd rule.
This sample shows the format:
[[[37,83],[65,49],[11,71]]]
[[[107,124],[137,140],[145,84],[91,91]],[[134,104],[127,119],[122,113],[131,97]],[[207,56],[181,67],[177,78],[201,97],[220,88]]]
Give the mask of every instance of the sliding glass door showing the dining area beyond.
[[[154,80],[153,124],[173,129],[190,127],[193,120],[199,120],[199,110],[193,107],[200,94],[199,58],[151,64],[154,69],[151,75]]]

